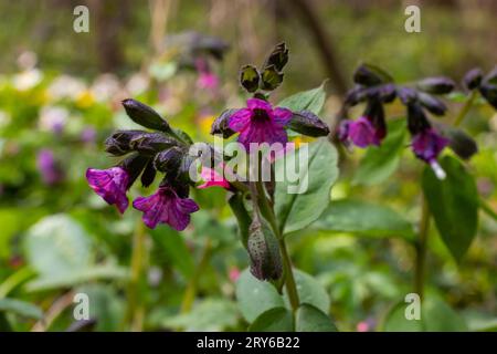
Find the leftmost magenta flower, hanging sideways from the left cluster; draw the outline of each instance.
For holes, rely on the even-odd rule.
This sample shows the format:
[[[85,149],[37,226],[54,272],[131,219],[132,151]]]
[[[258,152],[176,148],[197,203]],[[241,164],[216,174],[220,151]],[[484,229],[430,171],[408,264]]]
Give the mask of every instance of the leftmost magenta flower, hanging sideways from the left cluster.
[[[104,198],[109,205],[116,205],[120,214],[125,212],[129,205],[126,197],[128,188],[129,175],[121,167],[113,167],[109,169],[86,170],[86,179],[89,187]]]

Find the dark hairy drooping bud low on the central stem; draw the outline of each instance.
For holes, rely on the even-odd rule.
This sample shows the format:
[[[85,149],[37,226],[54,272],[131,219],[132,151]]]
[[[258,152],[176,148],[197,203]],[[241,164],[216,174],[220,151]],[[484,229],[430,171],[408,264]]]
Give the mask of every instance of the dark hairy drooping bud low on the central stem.
[[[277,280],[283,267],[276,236],[264,220],[255,218],[248,229],[251,273],[258,280]]]

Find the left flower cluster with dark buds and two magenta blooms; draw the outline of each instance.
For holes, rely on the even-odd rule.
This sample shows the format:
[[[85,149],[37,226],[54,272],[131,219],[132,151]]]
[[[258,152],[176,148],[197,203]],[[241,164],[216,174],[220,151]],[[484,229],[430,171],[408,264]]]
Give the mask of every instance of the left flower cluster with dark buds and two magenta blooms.
[[[184,230],[190,222],[190,214],[199,210],[199,206],[188,198],[189,183],[186,175],[189,166],[184,162],[188,136],[173,131],[157,112],[135,100],[125,100],[123,105],[133,121],[156,132],[114,133],[106,140],[106,150],[125,158],[108,169],[88,168],[88,185],[123,214],[129,205],[126,194],[136,179],[141,176],[142,186],[148,187],[158,171],[163,173],[158,190],[149,197],[136,198],[133,207],[144,212],[144,222],[149,228],[167,223],[176,230]]]

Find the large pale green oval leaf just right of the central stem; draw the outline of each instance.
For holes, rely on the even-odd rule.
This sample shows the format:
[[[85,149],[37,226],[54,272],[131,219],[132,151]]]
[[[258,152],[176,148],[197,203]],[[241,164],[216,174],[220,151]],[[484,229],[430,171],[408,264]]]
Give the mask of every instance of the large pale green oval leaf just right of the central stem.
[[[282,181],[276,184],[275,210],[284,233],[300,230],[319,218],[329,204],[331,186],[338,178],[335,147],[326,139],[308,146],[307,158],[300,158],[300,147],[287,154],[285,163],[276,162],[276,180]],[[290,174],[298,176],[298,181],[288,180],[288,177],[295,177],[285,170],[288,166]],[[298,173],[295,168],[298,168]]]

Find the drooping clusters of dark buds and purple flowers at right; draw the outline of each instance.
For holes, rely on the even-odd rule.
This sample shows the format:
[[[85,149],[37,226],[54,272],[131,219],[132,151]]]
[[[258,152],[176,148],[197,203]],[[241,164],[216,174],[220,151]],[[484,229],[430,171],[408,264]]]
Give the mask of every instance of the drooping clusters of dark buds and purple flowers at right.
[[[497,74],[490,73],[482,80],[480,71],[470,71],[464,82],[468,90],[478,88],[491,104],[493,91]],[[356,86],[346,96],[339,114],[337,137],[346,146],[356,145],[364,148],[370,145],[381,145],[387,136],[387,124],[383,105],[399,98],[406,107],[408,129],[411,134],[411,149],[414,155],[429,164],[438,178],[445,173],[437,163],[442,150],[450,146],[463,158],[476,153],[476,144],[465,134],[453,134],[447,127],[432,122],[429,114],[443,116],[447,106],[437,95],[451,93],[455,82],[448,77],[427,77],[413,86],[399,85],[390,74],[369,64],[360,65],[353,75]],[[495,98],[495,97],[494,97]],[[357,119],[349,119],[349,108],[366,103],[366,110]],[[495,101],[494,101],[495,104]]]

